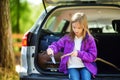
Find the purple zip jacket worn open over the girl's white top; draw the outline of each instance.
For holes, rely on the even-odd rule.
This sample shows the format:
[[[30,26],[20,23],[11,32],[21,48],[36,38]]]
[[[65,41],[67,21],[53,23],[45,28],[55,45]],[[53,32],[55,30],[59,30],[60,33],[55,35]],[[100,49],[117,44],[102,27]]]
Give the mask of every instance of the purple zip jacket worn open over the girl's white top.
[[[64,48],[64,54],[69,54],[74,49],[74,41],[70,39],[68,35],[63,36],[57,42],[53,42],[49,48],[54,51],[54,54],[58,53],[62,48]],[[70,56],[66,56],[61,59],[59,71],[67,74],[67,62]],[[78,51],[78,57],[80,57],[85,65],[85,67],[93,74],[97,74],[97,67],[94,64],[97,57],[96,43],[92,36],[88,34],[82,41],[81,49]]]

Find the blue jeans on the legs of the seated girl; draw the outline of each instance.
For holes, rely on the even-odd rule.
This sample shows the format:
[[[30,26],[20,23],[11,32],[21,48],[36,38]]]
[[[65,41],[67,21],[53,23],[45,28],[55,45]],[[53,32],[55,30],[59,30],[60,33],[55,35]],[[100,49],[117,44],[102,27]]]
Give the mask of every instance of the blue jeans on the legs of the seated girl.
[[[91,80],[91,73],[87,68],[69,68],[70,80]]]

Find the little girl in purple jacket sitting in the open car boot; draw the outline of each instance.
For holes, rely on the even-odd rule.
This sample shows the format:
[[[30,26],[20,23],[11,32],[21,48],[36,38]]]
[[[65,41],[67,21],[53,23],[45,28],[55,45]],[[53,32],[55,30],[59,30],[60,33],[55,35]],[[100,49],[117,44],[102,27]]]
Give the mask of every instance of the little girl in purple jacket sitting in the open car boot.
[[[75,13],[71,18],[71,31],[47,49],[48,55],[57,54],[64,48],[59,71],[69,74],[70,80],[91,80],[97,74],[94,64],[97,48],[90,34],[84,13]]]

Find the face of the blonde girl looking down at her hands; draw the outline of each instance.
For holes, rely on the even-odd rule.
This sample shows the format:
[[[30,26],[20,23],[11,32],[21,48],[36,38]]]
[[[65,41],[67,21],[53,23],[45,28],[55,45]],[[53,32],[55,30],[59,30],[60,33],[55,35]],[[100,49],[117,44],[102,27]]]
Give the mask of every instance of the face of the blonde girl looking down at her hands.
[[[80,24],[79,21],[72,23],[73,32],[77,37],[81,37],[83,33],[83,26]]]

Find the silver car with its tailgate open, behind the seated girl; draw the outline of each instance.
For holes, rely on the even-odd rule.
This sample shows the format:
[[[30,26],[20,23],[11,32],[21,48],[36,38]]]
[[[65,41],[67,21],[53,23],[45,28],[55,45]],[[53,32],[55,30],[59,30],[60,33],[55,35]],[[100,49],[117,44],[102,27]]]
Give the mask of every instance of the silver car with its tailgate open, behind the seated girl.
[[[69,80],[58,71],[63,50],[54,61],[46,49],[69,33],[70,18],[76,12],[86,14],[95,37],[98,74],[94,80],[120,80],[120,1],[112,1],[43,0],[45,10],[22,38],[20,80]]]

